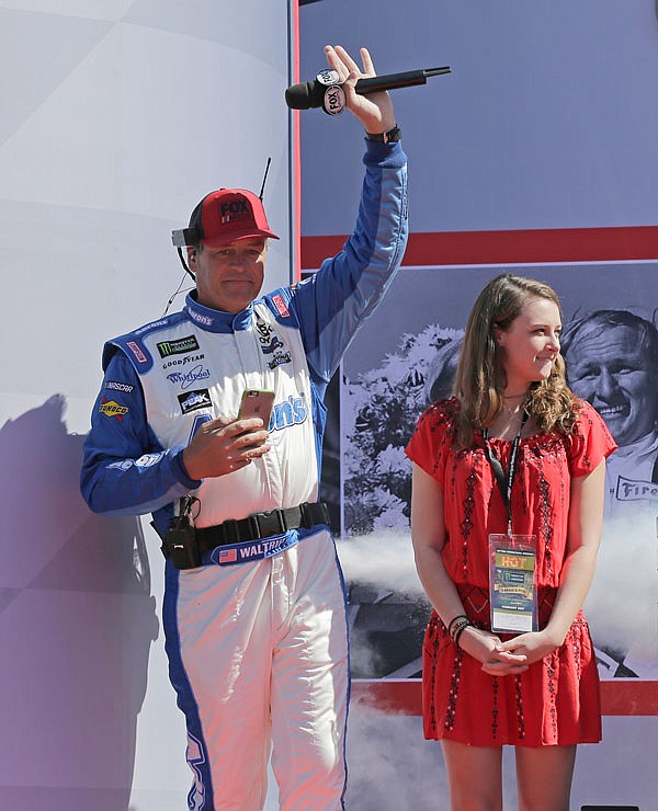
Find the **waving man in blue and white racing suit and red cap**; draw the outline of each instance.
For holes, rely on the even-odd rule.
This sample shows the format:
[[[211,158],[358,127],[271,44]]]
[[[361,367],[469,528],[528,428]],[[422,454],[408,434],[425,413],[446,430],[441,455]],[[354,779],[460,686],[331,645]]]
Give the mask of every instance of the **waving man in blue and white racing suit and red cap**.
[[[353,235],[315,276],[258,298],[275,238],[259,198],[204,197],[182,231],[196,290],[181,312],[107,342],[86,443],[90,507],[151,512],[169,555],[163,625],[190,809],[261,809],[271,743],[282,809],[343,808],[348,640],[317,503],[322,397],[401,262],[407,174],[388,94],[354,91],[374,76],[367,50],[362,72],[341,47],[326,55],[366,132]],[[236,420],[245,389],[275,392],[269,426]]]

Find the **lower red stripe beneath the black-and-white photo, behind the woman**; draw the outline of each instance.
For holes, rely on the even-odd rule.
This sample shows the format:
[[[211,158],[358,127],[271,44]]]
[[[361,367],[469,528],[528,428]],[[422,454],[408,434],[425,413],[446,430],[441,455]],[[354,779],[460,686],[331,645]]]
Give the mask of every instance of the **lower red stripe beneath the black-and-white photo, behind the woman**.
[[[354,679],[352,699],[360,706],[404,716],[422,713],[421,683],[418,679]],[[616,679],[601,683],[604,716],[658,716],[658,682]]]

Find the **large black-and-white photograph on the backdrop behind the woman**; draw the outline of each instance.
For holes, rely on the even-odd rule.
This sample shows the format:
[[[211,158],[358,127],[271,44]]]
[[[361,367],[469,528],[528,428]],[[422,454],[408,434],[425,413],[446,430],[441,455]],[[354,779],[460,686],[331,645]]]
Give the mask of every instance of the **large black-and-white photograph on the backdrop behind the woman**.
[[[450,397],[468,312],[501,272],[549,284],[563,305],[575,392],[619,443],[608,465],[604,536],[586,609],[603,678],[658,676],[658,267],[656,262],[405,267],[354,339],[340,386],[342,555],[354,675],[420,676],[429,604],[409,549],[420,413]],[[620,287],[623,277],[623,288]]]

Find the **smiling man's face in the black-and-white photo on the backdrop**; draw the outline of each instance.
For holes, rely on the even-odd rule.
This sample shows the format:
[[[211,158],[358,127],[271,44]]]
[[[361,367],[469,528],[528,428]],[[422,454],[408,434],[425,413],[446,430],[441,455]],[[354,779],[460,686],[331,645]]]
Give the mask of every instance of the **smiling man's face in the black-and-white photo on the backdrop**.
[[[656,369],[647,368],[638,334],[610,327],[576,336],[567,353],[569,382],[605,420],[615,441],[629,445],[654,429],[658,408]]]

